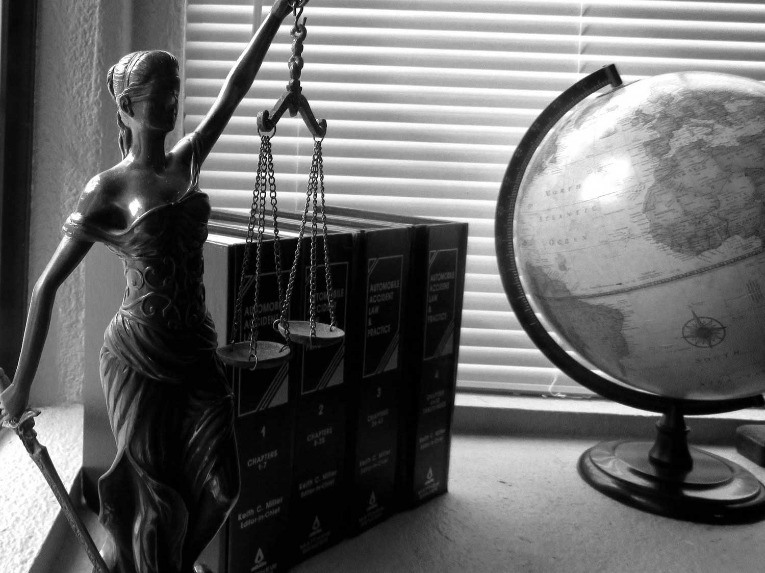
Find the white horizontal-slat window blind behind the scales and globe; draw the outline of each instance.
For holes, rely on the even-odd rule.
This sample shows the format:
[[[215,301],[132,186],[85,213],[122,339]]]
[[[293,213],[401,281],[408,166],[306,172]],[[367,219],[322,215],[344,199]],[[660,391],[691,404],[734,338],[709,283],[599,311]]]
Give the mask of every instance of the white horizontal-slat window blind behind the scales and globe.
[[[200,122],[270,5],[190,0],[184,129]],[[509,159],[544,107],[616,63],[625,82],[708,70],[765,80],[765,5],[683,0],[313,0],[301,76],[324,140],[327,201],[467,221],[461,389],[587,394],[526,337],[496,267],[493,218]],[[256,115],[288,81],[291,18],[204,164],[213,205],[248,208]],[[272,140],[283,207],[301,207],[313,142]]]

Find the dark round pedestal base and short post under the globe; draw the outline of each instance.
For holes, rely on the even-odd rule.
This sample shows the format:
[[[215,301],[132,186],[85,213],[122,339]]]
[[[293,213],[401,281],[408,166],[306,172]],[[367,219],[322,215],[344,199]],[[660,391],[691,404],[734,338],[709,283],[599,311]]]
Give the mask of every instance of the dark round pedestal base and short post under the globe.
[[[747,523],[765,517],[765,487],[732,461],[688,448],[688,428],[672,406],[649,441],[604,441],[579,458],[596,490],[641,510],[702,523]]]

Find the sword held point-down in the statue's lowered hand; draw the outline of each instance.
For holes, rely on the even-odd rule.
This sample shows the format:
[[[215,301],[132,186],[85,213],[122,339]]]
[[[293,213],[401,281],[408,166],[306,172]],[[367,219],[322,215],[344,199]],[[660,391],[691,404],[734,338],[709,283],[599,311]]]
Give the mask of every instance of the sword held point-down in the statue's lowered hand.
[[[5,376],[5,373],[0,371],[0,391],[5,390],[10,385],[11,381],[8,379],[8,376]],[[14,418],[10,422],[0,422],[0,427],[5,426],[6,428],[11,428],[16,432],[16,435],[21,438],[24,448],[27,449],[32,461],[34,461],[34,464],[40,468],[45,481],[47,481],[50,489],[53,490],[53,494],[56,496],[56,499],[61,506],[61,510],[63,510],[63,515],[66,516],[74,535],[77,536],[80,545],[85,549],[90,562],[93,563],[93,567],[96,568],[96,572],[109,573],[109,568],[106,567],[106,563],[103,561],[103,557],[101,557],[99,550],[96,548],[93,538],[90,536],[83,520],[80,519],[77,510],[74,508],[69,493],[67,493],[67,488],[64,487],[53,462],[50,461],[50,455],[47,453],[47,448],[37,441],[37,432],[34,431],[34,418],[37,415],[40,415],[40,410],[27,409],[18,419]]]

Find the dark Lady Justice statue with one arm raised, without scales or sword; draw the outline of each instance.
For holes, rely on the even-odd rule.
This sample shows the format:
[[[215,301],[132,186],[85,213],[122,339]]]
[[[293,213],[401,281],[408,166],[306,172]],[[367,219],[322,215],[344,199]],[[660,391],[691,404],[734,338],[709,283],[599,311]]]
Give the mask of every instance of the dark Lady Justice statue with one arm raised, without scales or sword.
[[[15,379],[0,394],[5,422],[27,408],[63,280],[96,241],[125,265],[125,297],[100,354],[117,444],[99,480],[99,520],[107,532],[101,554],[112,573],[207,571],[195,560],[239,495],[233,396],[204,300],[210,201],[198,177],[282,20],[306,1],[275,1],[207,116],[168,154],[177,60],[163,51],[135,52],[109,70],[122,161],[86,185],[32,293]]]

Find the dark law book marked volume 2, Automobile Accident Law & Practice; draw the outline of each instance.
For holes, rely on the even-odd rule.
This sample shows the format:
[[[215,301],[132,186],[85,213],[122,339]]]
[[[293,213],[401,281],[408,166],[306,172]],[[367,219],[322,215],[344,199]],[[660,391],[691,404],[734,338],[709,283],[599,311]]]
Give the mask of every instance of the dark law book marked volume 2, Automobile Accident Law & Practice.
[[[249,213],[213,210],[213,227],[243,233]],[[298,233],[295,218],[281,217],[281,230]],[[310,223],[308,225],[310,231]],[[301,244],[298,274],[303,288],[295,297],[292,313],[308,320],[310,311],[311,239]],[[327,236],[331,298],[337,327],[347,329],[353,235],[332,230]],[[327,281],[324,272],[324,238],[316,242],[316,320],[330,323]],[[293,564],[343,539],[345,529],[346,441],[348,396],[345,378],[345,341],[327,347],[293,344],[291,400],[295,404],[294,450],[291,474],[291,506],[285,547]]]

